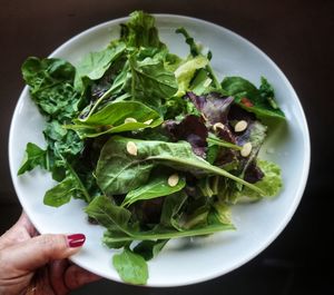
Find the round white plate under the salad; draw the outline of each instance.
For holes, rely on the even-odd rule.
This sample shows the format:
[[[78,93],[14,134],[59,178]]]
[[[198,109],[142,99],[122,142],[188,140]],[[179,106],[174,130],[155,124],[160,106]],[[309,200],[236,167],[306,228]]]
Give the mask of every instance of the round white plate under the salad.
[[[214,58],[214,70],[220,76],[237,75],[258,85],[263,75],[273,83],[287,125],[271,135],[263,156],[278,163],[283,170],[284,189],[278,197],[233,208],[236,232],[224,232],[191,242],[178,240],[149,262],[149,286],[179,286],[203,282],[230,272],[266,248],[292,218],[303,195],[310,167],[310,137],[299,100],[283,72],[258,48],[238,35],[219,26],[180,16],[157,14],[160,38],[171,52],[188,53],[184,38],[175,33],[185,27],[195,40],[208,47]],[[94,27],[59,47],[51,57],[72,63],[84,53],[99,50],[110,39],[118,38],[119,23],[112,20]],[[276,40],[273,38],[272,40]],[[45,145],[43,118],[31,102],[27,87],[13,114],[9,138],[9,161],[14,188],[21,205],[40,233],[84,233],[87,242],[72,260],[98,275],[119,281],[111,265],[114,250],[101,246],[104,229],[88,224],[82,212],[84,201],[71,200],[60,208],[47,207],[43,194],[53,183],[39,169],[17,177],[26,144]]]

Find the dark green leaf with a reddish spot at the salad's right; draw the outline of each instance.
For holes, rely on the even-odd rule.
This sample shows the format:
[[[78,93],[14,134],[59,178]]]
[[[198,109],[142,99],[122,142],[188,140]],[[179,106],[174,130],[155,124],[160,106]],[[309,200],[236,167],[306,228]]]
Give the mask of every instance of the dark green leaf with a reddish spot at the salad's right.
[[[238,106],[254,112],[258,118],[285,118],[284,112],[274,102],[273,88],[264,78],[261,89],[242,77],[226,77],[222,87],[229,96],[235,97]]]

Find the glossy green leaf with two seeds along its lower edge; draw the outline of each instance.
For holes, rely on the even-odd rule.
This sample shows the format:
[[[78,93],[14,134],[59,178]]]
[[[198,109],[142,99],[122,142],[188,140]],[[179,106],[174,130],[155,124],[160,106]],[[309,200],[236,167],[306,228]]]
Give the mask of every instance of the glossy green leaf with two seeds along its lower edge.
[[[73,122],[75,125],[67,125],[66,128],[73,129],[80,138],[86,138],[154,128],[163,122],[163,118],[139,101],[116,101],[85,119],[75,119]]]

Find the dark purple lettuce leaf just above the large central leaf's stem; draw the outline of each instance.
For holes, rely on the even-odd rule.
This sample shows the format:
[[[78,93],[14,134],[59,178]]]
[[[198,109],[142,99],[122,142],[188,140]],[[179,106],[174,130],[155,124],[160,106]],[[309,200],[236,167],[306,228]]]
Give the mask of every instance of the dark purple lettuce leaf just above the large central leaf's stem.
[[[203,118],[188,115],[180,122],[167,120],[165,128],[170,134],[173,140],[188,141],[191,145],[193,151],[197,156],[205,158],[208,131]]]

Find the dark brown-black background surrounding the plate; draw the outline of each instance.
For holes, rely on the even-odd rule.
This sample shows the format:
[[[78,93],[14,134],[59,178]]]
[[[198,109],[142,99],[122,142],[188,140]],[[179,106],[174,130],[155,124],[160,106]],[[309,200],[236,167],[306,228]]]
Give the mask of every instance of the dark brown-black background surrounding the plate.
[[[250,40],[292,82],[312,140],[311,173],[302,203],[267,249],[223,277],[180,288],[102,281],[73,294],[333,294],[334,1],[0,0],[0,234],[20,215],[8,167],[8,134],[23,87],[22,61],[32,55],[46,57],[82,30],[135,9],[185,14],[222,24]]]

